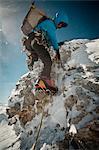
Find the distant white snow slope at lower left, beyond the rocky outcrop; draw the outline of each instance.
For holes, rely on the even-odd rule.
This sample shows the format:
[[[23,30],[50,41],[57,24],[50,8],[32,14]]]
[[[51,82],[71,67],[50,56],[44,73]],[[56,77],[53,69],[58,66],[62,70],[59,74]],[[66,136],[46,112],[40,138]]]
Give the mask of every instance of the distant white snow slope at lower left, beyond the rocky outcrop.
[[[6,107],[6,105],[0,105],[0,150],[18,150],[20,147],[19,137],[15,134],[13,126],[8,125]],[[15,145],[12,146],[13,144]]]

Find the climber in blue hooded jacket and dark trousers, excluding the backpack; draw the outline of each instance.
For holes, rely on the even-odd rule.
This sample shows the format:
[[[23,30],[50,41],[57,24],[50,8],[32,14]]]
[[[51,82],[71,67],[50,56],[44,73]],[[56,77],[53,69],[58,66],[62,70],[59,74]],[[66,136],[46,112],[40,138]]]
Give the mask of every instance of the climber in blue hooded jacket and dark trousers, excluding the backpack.
[[[39,77],[36,84],[36,89],[50,89],[55,90],[55,84],[51,80],[51,66],[52,60],[48,49],[53,46],[55,50],[55,60],[60,60],[59,45],[56,38],[56,30],[68,25],[68,18],[64,12],[59,12],[56,14],[54,19],[43,17],[42,21],[37,24],[35,29],[28,34],[28,38],[23,40],[23,44],[26,49],[30,51],[30,62],[28,64],[30,70],[33,68],[34,61],[38,58],[44,64],[43,71]],[[30,67],[31,66],[31,67]]]

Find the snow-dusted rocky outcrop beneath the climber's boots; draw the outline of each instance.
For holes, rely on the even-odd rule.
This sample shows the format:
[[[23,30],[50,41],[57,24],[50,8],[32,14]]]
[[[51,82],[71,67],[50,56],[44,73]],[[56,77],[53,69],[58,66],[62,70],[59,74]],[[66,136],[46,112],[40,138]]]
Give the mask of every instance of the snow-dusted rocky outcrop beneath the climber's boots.
[[[41,147],[41,150],[44,147],[51,150],[65,150],[70,146],[71,137],[72,143],[74,142],[71,144],[71,149],[77,149],[79,145],[79,149],[84,147],[90,149],[95,146],[99,148],[97,145],[99,140],[97,136],[99,132],[98,56],[97,61],[93,59],[98,41],[78,39],[65,42],[61,46],[62,61],[60,64],[53,62],[51,73],[59,88],[55,96],[33,94],[35,81],[43,67],[40,60],[35,63],[33,72],[27,73],[18,81],[9,97],[7,114],[10,124],[14,123],[14,130],[20,137],[19,149],[29,150],[35,143],[42,114],[37,150]],[[91,47],[93,55],[88,49],[92,43],[94,43]],[[76,134],[73,132],[74,128],[70,130],[73,126],[75,131],[77,130]],[[71,132],[69,134],[69,131],[73,134]]]

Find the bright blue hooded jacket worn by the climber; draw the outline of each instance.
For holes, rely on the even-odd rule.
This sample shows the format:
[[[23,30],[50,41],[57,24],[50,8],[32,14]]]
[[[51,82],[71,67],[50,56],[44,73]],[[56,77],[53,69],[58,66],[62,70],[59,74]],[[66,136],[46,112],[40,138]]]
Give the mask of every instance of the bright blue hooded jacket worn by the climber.
[[[50,45],[53,46],[56,52],[59,50],[56,30],[57,25],[60,22],[68,24],[68,17],[66,14],[64,14],[64,12],[57,13],[53,20],[46,19],[35,27],[36,30],[40,30],[44,33],[47,41],[50,42]]]

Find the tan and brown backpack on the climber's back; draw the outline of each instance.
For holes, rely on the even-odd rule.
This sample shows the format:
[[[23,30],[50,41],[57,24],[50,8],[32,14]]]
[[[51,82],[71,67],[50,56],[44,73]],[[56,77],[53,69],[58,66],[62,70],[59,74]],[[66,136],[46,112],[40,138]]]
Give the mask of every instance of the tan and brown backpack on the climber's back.
[[[21,26],[22,32],[25,35],[28,35],[37,26],[43,17],[47,18],[45,13],[36,8],[33,4],[23,20],[23,24]]]

